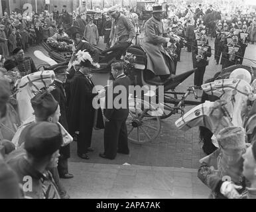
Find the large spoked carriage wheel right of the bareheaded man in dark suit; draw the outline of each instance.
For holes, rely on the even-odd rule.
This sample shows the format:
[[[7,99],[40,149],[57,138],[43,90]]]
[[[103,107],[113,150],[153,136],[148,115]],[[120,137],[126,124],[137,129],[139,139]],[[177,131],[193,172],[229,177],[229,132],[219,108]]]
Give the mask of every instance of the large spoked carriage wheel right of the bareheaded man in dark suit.
[[[147,101],[129,99],[129,116],[127,117],[128,140],[143,144],[155,140],[160,132],[159,113]]]

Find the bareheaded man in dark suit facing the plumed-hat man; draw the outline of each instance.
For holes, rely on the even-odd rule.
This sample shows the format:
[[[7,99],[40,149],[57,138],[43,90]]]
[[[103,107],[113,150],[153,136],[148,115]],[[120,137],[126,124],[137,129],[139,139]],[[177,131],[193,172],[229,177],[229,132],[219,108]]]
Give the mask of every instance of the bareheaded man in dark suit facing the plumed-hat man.
[[[115,159],[117,152],[121,154],[129,154],[128,142],[127,142],[127,127],[126,119],[129,115],[128,97],[129,97],[129,85],[131,80],[128,76],[123,74],[123,64],[116,62],[111,64],[111,73],[115,81],[109,85],[106,92],[105,99],[105,131],[104,131],[104,153],[99,154],[101,158]],[[117,85],[125,87],[126,93],[113,93],[113,90]],[[113,90],[112,90],[113,88]],[[122,90],[123,91],[123,90]],[[110,96],[112,98],[108,98]],[[115,97],[121,95],[121,108],[117,109],[120,105],[114,105]],[[125,98],[125,99],[123,99]],[[123,100],[126,102],[123,103]],[[123,105],[125,104],[125,108]],[[111,105],[109,107],[109,105]]]

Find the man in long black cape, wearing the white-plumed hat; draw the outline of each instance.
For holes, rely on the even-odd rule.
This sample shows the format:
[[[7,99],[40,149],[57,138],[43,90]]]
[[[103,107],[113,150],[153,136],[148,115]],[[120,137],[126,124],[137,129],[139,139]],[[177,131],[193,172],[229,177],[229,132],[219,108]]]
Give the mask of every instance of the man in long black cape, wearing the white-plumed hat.
[[[68,127],[70,134],[77,135],[77,153],[80,158],[89,159],[87,152],[92,152],[92,129],[94,127],[95,109],[92,100],[97,93],[92,93],[89,67],[81,67],[70,81],[70,97],[68,103]]]

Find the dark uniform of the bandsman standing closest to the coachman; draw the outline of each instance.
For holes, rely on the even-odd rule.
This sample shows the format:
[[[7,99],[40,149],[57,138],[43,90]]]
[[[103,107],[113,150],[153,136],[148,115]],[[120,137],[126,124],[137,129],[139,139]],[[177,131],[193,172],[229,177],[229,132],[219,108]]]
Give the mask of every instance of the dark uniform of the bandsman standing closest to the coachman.
[[[198,45],[198,48],[196,48],[196,52],[194,52],[196,55],[202,55],[202,59],[196,60],[196,72],[194,74],[194,85],[201,86],[204,80],[204,72],[206,72],[206,66],[208,66],[208,60],[210,56],[212,56],[212,50],[211,46],[208,46],[206,44],[200,44]]]

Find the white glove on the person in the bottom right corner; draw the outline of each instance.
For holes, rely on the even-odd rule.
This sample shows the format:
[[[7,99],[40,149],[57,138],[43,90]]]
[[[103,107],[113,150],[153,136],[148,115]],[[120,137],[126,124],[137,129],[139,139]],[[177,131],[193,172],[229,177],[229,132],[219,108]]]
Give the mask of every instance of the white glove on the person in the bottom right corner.
[[[235,185],[233,182],[225,181],[220,187],[220,193],[222,193],[228,199],[239,199],[241,195],[236,189],[241,189],[241,185]]]

